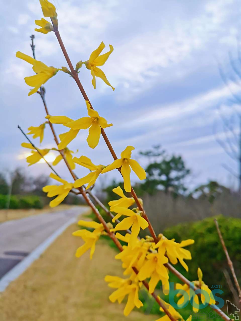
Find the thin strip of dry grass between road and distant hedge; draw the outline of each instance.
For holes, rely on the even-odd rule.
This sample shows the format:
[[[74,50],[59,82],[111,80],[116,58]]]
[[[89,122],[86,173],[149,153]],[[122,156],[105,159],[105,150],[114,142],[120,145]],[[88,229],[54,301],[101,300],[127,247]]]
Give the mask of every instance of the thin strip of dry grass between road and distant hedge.
[[[71,205],[61,204],[57,207],[45,206],[43,209],[38,210],[31,208],[29,210],[0,210],[0,223],[10,220],[19,220],[24,217],[38,215],[43,213],[54,213],[56,211],[66,210],[70,208]]]

